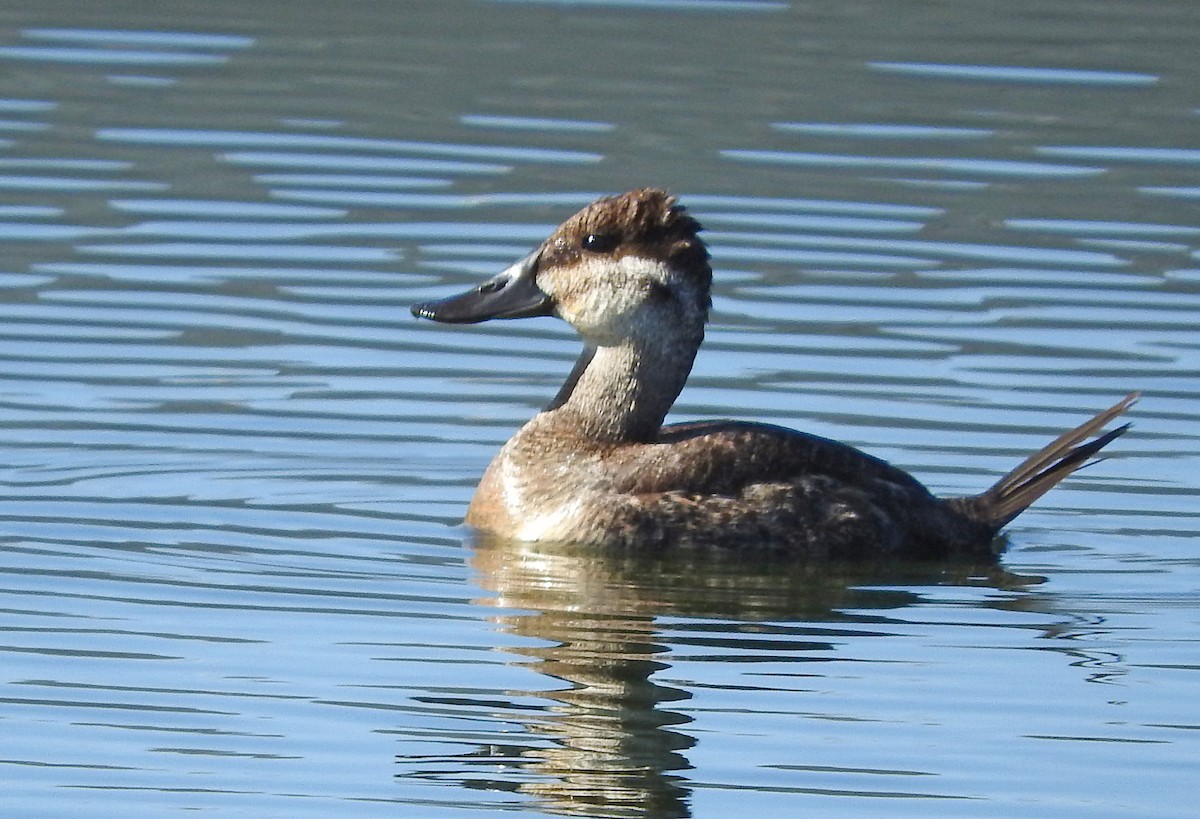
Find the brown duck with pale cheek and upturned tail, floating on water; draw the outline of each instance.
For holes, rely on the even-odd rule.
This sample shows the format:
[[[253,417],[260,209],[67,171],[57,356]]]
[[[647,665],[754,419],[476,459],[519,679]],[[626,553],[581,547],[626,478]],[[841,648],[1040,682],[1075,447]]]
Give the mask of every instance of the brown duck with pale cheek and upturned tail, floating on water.
[[[466,293],[413,305],[446,324],[557,316],[582,353],[497,453],[466,524],[596,550],[752,550],[797,560],[978,557],[1092,461],[1138,399],[1038,450],[979,495],[938,497],[850,444],[752,420],[665,424],[704,339],[713,270],[700,222],[646,187],[600,198]]]

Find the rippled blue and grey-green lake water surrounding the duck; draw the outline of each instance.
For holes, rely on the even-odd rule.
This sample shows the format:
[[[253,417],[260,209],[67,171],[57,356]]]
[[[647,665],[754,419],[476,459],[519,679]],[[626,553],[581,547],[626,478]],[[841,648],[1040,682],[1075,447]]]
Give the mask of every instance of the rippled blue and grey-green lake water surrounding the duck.
[[[0,813],[1180,817],[1200,5],[0,6]],[[577,342],[415,322],[600,193],[708,228],[673,418],[979,491],[998,567],[474,543]]]

